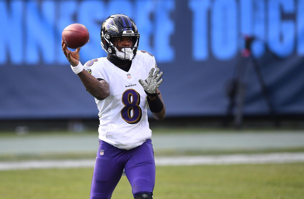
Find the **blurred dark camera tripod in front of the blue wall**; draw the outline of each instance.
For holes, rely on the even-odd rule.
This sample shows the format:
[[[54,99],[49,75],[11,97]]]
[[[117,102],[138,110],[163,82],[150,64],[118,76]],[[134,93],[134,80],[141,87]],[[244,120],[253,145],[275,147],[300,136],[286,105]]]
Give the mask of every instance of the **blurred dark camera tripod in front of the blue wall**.
[[[235,128],[241,128],[243,125],[243,106],[246,92],[246,84],[244,83],[244,79],[246,70],[250,65],[250,61],[253,63],[252,65],[257,75],[257,79],[260,83],[262,94],[266,100],[271,118],[273,118],[275,114],[265,81],[261,73],[260,66],[251,52],[251,45],[254,40],[255,37],[245,37],[245,48],[241,51],[241,56],[238,57],[234,78],[231,80],[227,87],[227,95],[229,97],[227,115],[234,115]],[[235,114],[233,114],[234,108],[236,108]]]

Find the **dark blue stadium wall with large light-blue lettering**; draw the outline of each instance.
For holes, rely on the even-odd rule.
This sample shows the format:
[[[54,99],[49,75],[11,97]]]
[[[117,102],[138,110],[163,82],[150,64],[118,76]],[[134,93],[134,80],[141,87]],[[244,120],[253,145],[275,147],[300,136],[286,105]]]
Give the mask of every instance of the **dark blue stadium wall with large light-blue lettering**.
[[[98,117],[62,53],[61,32],[84,24],[90,41],[81,62],[105,56],[100,27],[115,13],[134,19],[139,49],[164,72],[167,116],[225,116],[238,68],[244,114],[269,114],[253,62],[241,58],[246,35],[255,38],[253,58],[275,113],[304,113],[304,0],[1,0],[0,119]]]

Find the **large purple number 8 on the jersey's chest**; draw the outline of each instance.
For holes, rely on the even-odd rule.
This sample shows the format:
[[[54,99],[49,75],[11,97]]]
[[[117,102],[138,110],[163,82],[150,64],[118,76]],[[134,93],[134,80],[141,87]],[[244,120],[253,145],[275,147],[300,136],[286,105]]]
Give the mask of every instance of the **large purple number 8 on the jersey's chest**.
[[[120,115],[124,121],[129,124],[136,124],[141,120],[141,107],[139,104],[141,103],[141,96],[134,89],[128,89],[123,92],[123,96],[121,98],[123,102],[123,109],[120,111]],[[133,112],[133,114],[132,114]]]

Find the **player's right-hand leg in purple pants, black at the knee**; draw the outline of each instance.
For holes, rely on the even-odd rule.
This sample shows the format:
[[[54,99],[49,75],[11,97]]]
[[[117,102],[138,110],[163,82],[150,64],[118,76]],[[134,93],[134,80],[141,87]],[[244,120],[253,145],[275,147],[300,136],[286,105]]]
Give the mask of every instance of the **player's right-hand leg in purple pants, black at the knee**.
[[[128,152],[130,157],[125,164],[125,172],[132,186],[133,196],[136,199],[152,198],[155,184],[155,162],[151,140],[145,141]]]

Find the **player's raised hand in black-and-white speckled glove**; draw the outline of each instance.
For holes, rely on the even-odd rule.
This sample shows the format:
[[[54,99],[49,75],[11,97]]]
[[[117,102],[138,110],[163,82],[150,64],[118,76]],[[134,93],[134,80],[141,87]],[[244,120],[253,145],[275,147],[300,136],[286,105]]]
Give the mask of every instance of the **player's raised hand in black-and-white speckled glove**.
[[[157,95],[156,89],[163,82],[163,79],[159,80],[162,77],[163,72],[159,73],[159,71],[160,69],[158,68],[153,74],[154,68],[151,68],[146,80],[142,80],[142,79],[138,80],[138,82],[144,88],[147,95],[150,97],[154,97]]]

